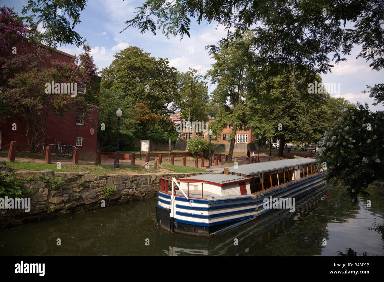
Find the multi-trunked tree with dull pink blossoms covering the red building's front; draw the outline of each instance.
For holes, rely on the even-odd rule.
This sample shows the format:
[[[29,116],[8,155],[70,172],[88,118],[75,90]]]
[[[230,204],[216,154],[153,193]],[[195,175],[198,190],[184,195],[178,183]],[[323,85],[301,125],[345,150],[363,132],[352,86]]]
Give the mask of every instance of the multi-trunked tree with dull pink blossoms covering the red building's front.
[[[92,114],[97,109],[93,99],[98,98],[99,80],[96,66],[87,54],[89,46],[84,45],[83,50],[85,54],[75,58],[71,64],[51,61],[53,67],[50,69],[31,69],[16,74],[8,80],[7,89],[0,94],[0,100],[7,102],[9,115],[23,118],[30,152],[36,152],[47,136],[45,126],[49,115],[63,117],[66,112],[83,112],[84,123],[96,125]],[[76,65],[77,61],[79,65]],[[72,97],[69,91],[59,94],[60,86],[59,93],[56,86],[55,91],[47,88],[47,82],[50,85],[51,81],[76,83],[88,88],[87,95]]]

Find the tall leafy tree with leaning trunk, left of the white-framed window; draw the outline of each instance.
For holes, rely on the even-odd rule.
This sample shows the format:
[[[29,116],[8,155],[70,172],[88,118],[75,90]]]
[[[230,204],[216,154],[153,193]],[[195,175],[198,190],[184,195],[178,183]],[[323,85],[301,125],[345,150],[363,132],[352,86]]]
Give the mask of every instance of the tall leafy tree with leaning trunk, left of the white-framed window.
[[[245,126],[245,104],[247,84],[251,76],[248,75],[250,53],[250,32],[243,37],[230,42],[227,46],[225,40],[219,41],[218,46],[207,46],[209,53],[216,63],[207,71],[205,78],[210,77],[211,84],[217,83],[217,87],[212,92],[212,102],[220,104],[216,120],[211,123],[216,134],[219,134],[223,125],[231,123],[232,130],[229,133],[230,147],[228,160],[232,162],[233,148],[235,147],[235,138],[237,129]],[[248,46],[245,48],[244,46]],[[230,107],[227,103],[229,102]],[[227,114],[224,114],[227,110]]]

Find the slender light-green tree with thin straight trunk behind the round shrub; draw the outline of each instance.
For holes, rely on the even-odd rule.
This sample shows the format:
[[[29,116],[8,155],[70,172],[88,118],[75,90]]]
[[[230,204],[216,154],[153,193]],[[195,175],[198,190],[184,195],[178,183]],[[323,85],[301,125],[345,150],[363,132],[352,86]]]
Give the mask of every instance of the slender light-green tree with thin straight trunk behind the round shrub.
[[[197,75],[198,72],[196,69],[189,68],[187,73],[179,75],[179,93],[181,97],[177,101],[177,107],[181,110],[181,117],[186,119],[189,125],[191,120],[200,122],[208,120],[208,87],[205,81],[201,81],[202,76]],[[186,150],[188,150],[188,142]]]

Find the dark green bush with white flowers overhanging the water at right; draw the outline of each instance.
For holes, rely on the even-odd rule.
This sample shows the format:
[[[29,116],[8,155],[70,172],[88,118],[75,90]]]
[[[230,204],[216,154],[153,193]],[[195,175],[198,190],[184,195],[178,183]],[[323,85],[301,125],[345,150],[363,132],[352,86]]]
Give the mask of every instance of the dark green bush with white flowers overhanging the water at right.
[[[364,193],[370,183],[384,175],[380,162],[384,158],[384,113],[370,112],[367,104],[344,108],[341,113],[318,143],[318,165],[327,163],[326,178],[334,179],[334,185],[341,183],[352,193]]]

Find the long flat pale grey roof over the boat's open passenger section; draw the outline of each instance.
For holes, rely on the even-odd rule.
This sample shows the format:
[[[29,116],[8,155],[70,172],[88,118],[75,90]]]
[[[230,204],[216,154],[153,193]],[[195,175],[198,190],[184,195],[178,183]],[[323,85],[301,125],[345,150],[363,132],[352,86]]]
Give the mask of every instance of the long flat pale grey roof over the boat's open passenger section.
[[[245,175],[255,175],[263,172],[270,172],[280,170],[287,167],[297,167],[299,165],[307,165],[310,163],[316,163],[314,158],[291,158],[288,160],[278,160],[272,162],[260,162],[260,163],[248,163],[247,165],[238,165],[227,167],[228,172],[240,173]],[[207,171],[223,171],[223,167],[207,168]]]

